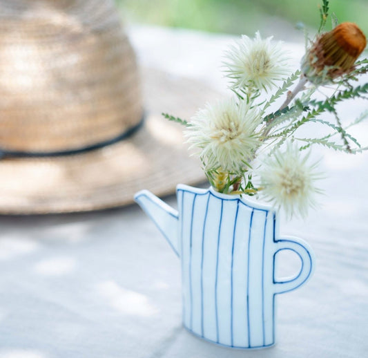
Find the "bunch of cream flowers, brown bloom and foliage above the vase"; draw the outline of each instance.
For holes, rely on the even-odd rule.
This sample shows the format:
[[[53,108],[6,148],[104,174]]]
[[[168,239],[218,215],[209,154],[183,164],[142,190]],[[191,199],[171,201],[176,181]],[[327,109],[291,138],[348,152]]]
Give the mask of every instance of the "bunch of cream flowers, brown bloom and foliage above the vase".
[[[281,43],[262,39],[259,32],[254,39],[243,35],[225,53],[232,97],[207,104],[190,122],[163,113],[186,126],[187,141],[216,191],[258,194],[289,217],[307,216],[321,192],[316,180],[322,178],[318,163],[309,160],[309,148],[322,145],[347,153],[367,149],[349,129],[365,120],[368,111],[344,126],[337,109],[345,100],[367,98],[367,83],[354,86],[368,72],[368,59],[357,61],[367,41],[356,24],[338,24],[335,17],[333,29],[323,32],[328,5],[323,1],[318,33],[313,40],[307,37],[307,51],[294,73]],[[332,95],[316,98],[331,87]],[[284,102],[269,111],[282,96]],[[335,121],[325,120],[325,113],[332,113]],[[329,133],[304,138],[299,130],[307,124],[316,125],[314,133],[323,126]]]

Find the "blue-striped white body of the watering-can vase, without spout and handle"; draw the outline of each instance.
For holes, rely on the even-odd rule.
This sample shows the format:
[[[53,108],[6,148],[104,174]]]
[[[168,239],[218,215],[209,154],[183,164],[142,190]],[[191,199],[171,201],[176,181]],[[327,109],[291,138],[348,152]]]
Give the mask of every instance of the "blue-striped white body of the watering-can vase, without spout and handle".
[[[210,191],[178,192],[184,326],[195,335],[224,346],[272,345],[273,335],[269,337],[264,328],[265,319],[269,319],[263,307],[264,284],[255,288],[260,286],[256,281],[265,270],[267,211],[247,207],[241,200],[217,198]],[[259,245],[261,256],[257,257],[251,250]],[[246,284],[244,288],[240,287],[242,282]],[[268,311],[272,321],[272,308]]]

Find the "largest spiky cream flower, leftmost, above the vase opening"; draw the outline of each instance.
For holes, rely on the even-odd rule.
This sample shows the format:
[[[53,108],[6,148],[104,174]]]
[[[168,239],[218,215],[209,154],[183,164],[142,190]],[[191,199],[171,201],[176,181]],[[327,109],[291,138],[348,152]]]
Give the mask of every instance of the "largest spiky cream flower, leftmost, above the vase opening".
[[[261,121],[258,110],[231,98],[207,104],[194,115],[184,134],[191,148],[197,149],[205,170],[238,173],[260,144],[255,129]]]

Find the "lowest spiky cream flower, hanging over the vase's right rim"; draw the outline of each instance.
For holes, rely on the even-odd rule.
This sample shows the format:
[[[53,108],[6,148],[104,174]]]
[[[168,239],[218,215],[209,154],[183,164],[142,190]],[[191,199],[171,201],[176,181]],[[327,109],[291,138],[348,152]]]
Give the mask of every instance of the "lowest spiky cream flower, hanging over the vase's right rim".
[[[310,152],[302,156],[298,147],[289,144],[282,153],[277,150],[262,163],[261,193],[277,209],[284,209],[288,218],[293,214],[307,216],[309,207],[316,207],[315,194],[322,191],[315,186],[322,178],[316,172],[318,162],[307,164]]]

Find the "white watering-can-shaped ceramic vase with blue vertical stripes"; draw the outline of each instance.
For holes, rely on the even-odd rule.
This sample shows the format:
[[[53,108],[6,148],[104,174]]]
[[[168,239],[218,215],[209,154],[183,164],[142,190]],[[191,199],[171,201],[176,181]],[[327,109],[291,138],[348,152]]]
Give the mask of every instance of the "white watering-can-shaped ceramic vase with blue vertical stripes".
[[[180,257],[184,327],[231,348],[273,346],[275,295],[311,277],[315,261],[309,245],[278,237],[270,207],[213,188],[178,185],[178,211],[147,190],[135,201]],[[302,265],[295,276],[278,279],[275,258],[284,249],[295,252]]]

